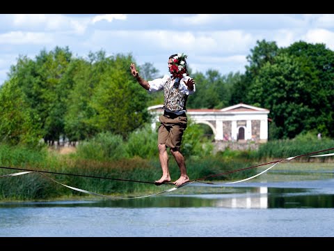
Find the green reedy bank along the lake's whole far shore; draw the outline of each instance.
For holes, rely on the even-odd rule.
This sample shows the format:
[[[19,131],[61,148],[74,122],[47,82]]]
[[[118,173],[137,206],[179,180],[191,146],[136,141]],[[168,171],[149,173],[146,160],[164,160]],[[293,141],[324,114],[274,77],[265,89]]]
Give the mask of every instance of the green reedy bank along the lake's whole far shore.
[[[326,145],[326,148],[325,146],[320,148],[317,145],[319,141],[317,141],[312,149],[294,149],[292,147],[294,145],[304,146],[305,144],[293,145],[293,143],[296,143],[294,141],[279,143],[268,144],[257,152],[226,150],[216,155],[191,156],[186,158],[189,178],[206,182],[238,181],[259,174],[272,165],[262,165],[263,163],[271,163],[277,161],[278,158],[310,153],[316,149],[328,149],[333,146],[331,141]],[[283,148],[283,145],[286,147]],[[278,147],[281,151],[277,151]],[[289,152],[286,149],[289,149]],[[44,173],[45,176],[33,172],[20,176],[1,177],[0,201],[91,199],[95,197],[72,190],[64,185],[113,197],[152,195],[173,187],[173,185],[154,185],[154,180],[161,177],[161,166],[157,156],[152,158],[132,156],[122,159],[102,158],[102,160],[97,160],[95,155],[83,156],[77,154],[74,151],[75,149],[70,150],[66,152],[50,151],[50,149],[33,151],[33,149],[18,146],[1,146],[1,167],[17,167],[49,173]],[[272,156],[273,153],[276,155]],[[303,181],[333,178],[333,158],[333,156],[325,158],[305,156],[283,161],[252,181],[264,179],[267,179],[267,181]],[[180,176],[180,170],[172,156],[170,156],[169,165],[171,178],[175,181]],[[261,166],[258,167],[257,165]],[[22,172],[22,170],[1,168],[0,176],[13,174],[14,172]],[[191,185],[186,185],[186,189],[182,188],[177,192],[191,193],[191,189],[188,187],[191,187]]]

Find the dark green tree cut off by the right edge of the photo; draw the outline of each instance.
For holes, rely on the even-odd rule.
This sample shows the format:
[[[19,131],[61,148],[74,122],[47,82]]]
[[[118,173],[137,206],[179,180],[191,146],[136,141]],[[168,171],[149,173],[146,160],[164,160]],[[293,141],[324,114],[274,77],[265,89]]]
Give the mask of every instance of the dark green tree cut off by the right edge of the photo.
[[[311,93],[305,97],[305,105],[312,107],[305,123],[305,130],[317,130],[324,136],[334,137],[334,52],[324,44],[296,42],[285,51],[303,64],[305,82]]]

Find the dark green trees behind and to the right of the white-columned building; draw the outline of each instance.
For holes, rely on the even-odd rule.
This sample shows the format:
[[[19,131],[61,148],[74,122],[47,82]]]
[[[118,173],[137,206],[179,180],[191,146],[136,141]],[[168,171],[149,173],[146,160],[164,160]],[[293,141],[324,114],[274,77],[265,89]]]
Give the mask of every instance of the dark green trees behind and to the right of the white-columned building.
[[[217,108],[244,102],[270,110],[269,140],[312,132],[334,137],[334,52],[303,41],[279,48],[257,41],[244,74],[214,70],[193,74],[198,92],[189,108]]]

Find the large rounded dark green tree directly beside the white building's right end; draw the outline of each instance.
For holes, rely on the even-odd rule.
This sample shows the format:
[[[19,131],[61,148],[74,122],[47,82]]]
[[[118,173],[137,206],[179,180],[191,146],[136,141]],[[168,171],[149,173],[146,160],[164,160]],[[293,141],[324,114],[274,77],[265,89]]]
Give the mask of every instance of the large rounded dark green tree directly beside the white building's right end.
[[[248,91],[248,102],[271,111],[275,124],[275,135],[269,135],[271,138],[295,137],[303,131],[305,121],[314,112],[304,103],[311,97],[304,79],[301,62],[287,54],[276,56],[273,63],[265,63],[257,73]]]

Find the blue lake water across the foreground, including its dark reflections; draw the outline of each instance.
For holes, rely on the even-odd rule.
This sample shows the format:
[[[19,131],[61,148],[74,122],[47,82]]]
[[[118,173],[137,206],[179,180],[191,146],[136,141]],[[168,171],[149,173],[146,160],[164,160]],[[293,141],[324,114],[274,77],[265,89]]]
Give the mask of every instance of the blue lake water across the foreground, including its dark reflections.
[[[0,236],[333,237],[333,208],[333,178],[192,183],[141,199],[0,203]]]

